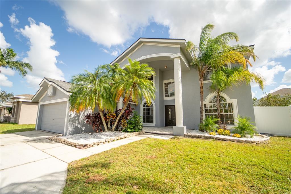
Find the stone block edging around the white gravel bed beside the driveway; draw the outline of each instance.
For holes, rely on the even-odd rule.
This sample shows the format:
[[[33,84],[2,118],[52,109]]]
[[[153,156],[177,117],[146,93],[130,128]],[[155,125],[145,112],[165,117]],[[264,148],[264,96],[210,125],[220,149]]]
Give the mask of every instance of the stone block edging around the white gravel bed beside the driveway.
[[[54,142],[57,142],[57,143],[62,143],[62,144],[68,145],[68,146],[76,147],[76,148],[79,148],[79,149],[86,149],[86,148],[89,148],[89,147],[102,145],[102,144],[105,144],[105,143],[113,142],[113,141],[116,141],[116,140],[121,140],[121,139],[124,139],[124,138],[127,138],[127,137],[132,137],[132,136],[140,135],[140,134],[143,134],[143,133],[145,133],[145,131],[126,133],[124,135],[108,137],[108,138],[105,138],[105,139],[98,139],[98,140],[96,139],[96,140],[93,140],[92,143],[88,143],[88,144],[81,144],[77,140],[71,140],[71,139],[63,138],[63,137],[61,137],[61,136],[63,136],[63,134],[57,134],[57,135],[48,137],[47,139],[51,140],[51,141],[54,141]]]

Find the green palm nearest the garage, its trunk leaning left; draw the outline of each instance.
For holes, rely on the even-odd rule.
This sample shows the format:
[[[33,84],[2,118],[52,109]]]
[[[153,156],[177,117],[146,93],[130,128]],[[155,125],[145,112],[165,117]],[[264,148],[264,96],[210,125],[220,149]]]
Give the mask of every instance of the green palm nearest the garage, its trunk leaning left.
[[[104,130],[107,131],[103,110],[113,111],[115,108],[111,93],[111,77],[100,66],[93,73],[85,70],[84,73],[73,76],[71,82],[70,110],[80,112],[90,109],[94,112],[97,106]]]

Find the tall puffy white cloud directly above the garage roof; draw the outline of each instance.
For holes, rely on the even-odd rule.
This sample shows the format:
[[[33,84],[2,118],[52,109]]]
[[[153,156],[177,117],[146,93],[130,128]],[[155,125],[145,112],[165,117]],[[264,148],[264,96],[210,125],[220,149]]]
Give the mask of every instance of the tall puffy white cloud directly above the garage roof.
[[[29,39],[30,46],[28,56],[22,61],[29,62],[33,66],[33,71],[25,77],[26,81],[31,87],[38,88],[43,77],[65,80],[62,70],[56,66],[56,57],[60,53],[52,49],[56,42],[52,39],[54,34],[51,27],[42,22],[36,24],[32,18],[28,21],[30,25],[20,29],[23,36]]]

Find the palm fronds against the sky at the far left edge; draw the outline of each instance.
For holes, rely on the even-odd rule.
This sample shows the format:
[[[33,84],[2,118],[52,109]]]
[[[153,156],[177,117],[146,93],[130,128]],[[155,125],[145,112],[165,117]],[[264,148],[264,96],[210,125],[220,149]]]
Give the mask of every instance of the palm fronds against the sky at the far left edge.
[[[23,77],[27,75],[27,70],[32,71],[32,66],[29,63],[23,61],[14,61],[16,53],[12,48],[0,49],[1,59],[0,59],[0,68],[10,68],[16,70]],[[1,70],[0,70],[1,73]]]

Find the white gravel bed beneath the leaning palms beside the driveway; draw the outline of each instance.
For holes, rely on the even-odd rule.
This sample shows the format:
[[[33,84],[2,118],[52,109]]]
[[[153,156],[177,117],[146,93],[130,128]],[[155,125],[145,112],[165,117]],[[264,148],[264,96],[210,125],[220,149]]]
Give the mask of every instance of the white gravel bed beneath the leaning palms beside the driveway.
[[[63,139],[70,139],[70,140],[76,140],[78,143],[81,144],[88,144],[93,142],[93,140],[101,140],[101,139],[107,139],[110,137],[115,137],[119,135],[125,135],[126,132],[120,132],[120,131],[104,131],[101,133],[80,133],[75,135],[65,135],[61,136]]]

